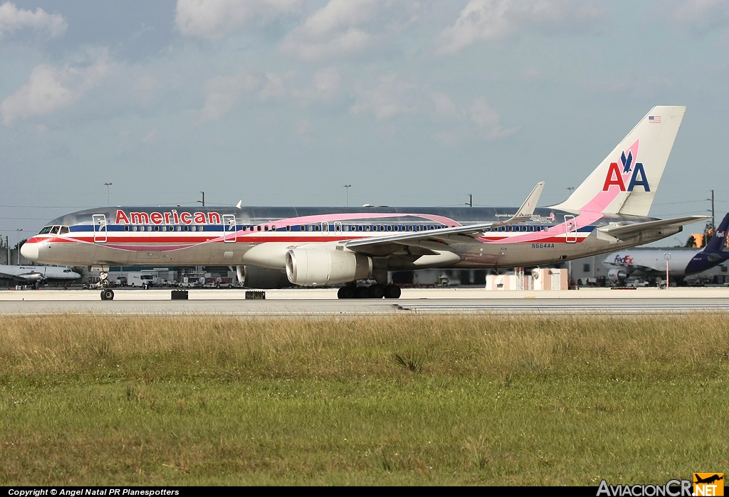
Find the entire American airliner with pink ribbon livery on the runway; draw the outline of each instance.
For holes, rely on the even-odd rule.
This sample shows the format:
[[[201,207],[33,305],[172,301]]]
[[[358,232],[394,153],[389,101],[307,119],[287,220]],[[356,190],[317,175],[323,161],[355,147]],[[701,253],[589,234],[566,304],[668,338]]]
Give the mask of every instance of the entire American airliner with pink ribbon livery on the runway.
[[[227,265],[244,286],[344,286],[398,298],[389,270],[535,266],[675,235],[709,219],[648,216],[686,108],[657,106],[567,200],[535,208],[93,208],[49,222],[21,250],[69,265]],[[376,284],[357,286],[373,278]],[[102,298],[113,298],[106,290]]]

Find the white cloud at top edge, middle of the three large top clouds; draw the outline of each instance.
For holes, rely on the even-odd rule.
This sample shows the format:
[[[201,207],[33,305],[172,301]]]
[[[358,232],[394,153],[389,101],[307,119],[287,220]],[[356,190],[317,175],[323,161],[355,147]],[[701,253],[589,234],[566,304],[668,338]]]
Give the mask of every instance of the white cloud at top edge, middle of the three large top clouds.
[[[379,0],[330,0],[286,36],[281,52],[298,60],[324,60],[364,50],[375,35],[359,26],[375,17],[379,4]]]

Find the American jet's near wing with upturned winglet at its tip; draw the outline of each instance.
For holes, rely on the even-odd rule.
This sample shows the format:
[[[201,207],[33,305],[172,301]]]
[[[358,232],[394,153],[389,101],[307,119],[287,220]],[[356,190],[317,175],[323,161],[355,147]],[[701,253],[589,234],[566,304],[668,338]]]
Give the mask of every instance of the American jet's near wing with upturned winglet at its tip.
[[[473,238],[477,238],[483,235],[483,231],[487,228],[494,226],[506,226],[507,224],[518,224],[521,222],[529,221],[531,214],[534,214],[534,207],[537,206],[539,195],[542,194],[542,188],[545,186],[544,181],[537,183],[537,186],[531,190],[529,197],[526,197],[524,203],[516,211],[512,217],[502,222],[486,222],[479,224],[467,224],[466,226],[455,226],[448,228],[440,228],[439,230],[427,230],[427,231],[413,231],[398,233],[397,235],[385,235],[374,238],[359,238],[357,240],[348,240],[343,242],[343,245],[347,248],[351,248],[354,251],[362,250],[365,247],[372,247],[376,245],[383,245],[387,243],[399,243],[401,245],[416,245],[422,240],[433,240],[440,242],[447,240],[453,235],[465,235]]]

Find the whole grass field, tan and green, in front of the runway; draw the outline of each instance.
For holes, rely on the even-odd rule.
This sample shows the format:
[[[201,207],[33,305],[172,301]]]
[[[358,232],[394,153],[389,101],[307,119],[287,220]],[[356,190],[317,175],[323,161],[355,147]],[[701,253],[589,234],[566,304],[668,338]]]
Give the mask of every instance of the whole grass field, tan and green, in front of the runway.
[[[728,318],[4,318],[0,485],[725,471]]]

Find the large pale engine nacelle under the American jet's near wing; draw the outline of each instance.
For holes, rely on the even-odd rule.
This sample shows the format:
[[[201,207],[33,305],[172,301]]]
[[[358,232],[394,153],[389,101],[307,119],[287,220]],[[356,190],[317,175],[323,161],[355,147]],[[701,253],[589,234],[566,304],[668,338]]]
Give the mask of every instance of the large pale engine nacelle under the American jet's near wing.
[[[372,258],[343,247],[289,248],[286,251],[286,275],[289,281],[301,286],[348,283],[372,275]]]

